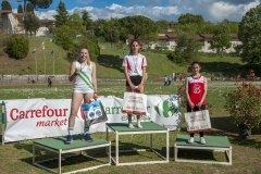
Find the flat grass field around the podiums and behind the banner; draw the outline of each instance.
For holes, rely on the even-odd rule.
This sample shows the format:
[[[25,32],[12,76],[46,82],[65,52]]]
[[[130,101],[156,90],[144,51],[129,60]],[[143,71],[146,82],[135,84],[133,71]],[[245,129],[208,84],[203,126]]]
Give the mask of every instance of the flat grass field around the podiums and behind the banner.
[[[164,87],[163,84],[147,84],[146,91],[148,95],[170,95],[177,94],[177,89],[181,84],[175,83],[171,86]],[[261,87],[260,84],[258,84]],[[253,135],[249,140],[239,141],[237,138],[237,127],[233,123],[228,113],[224,110],[224,94],[236,87],[234,83],[210,83],[208,92],[208,102],[211,103],[212,114],[211,123],[213,130],[211,135],[224,135],[227,136],[233,145],[233,165],[214,165],[214,164],[192,164],[192,163],[177,163],[174,162],[173,158],[173,145],[176,134],[186,134],[185,124],[182,123],[181,132],[171,132],[170,134],[170,163],[165,164],[148,164],[148,165],[135,165],[135,166],[107,166],[101,167],[88,173],[91,174],[201,174],[201,173],[261,173],[260,159],[261,159],[261,137],[260,133],[253,132]],[[117,96],[122,97],[125,90],[124,84],[98,84],[98,91],[100,96]],[[47,99],[63,99],[70,98],[72,91],[72,85],[53,85],[52,88],[48,88],[42,85],[26,85],[26,86],[0,86],[0,101],[5,99],[27,99],[27,98],[47,98]],[[104,134],[95,134],[95,137],[104,138]],[[125,145],[122,148],[137,148],[144,147],[148,141],[147,136],[124,136],[121,138],[121,142]],[[114,144],[114,141],[112,141]],[[134,146],[132,144],[135,144]],[[163,152],[161,146],[164,145],[163,136],[154,137],[156,148]],[[7,144],[0,147],[0,169],[1,173],[47,173],[38,167],[32,165],[32,140]],[[95,151],[96,154],[103,158],[104,151]],[[52,156],[41,151],[41,154]],[[138,156],[139,154],[139,156]],[[150,158],[152,154],[129,153],[123,156],[122,160],[126,161],[138,161],[140,158]],[[198,153],[195,151],[184,152],[183,156],[224,160],[224,156],[220,153]],[[55,167],[57,162],[50,163],[50,166]],[[78,169],[84,165],[88,165],[88,162],[82,158],[74,158],[71,161],[64,162],[64,170]],[[87,173],[87,172],[86,172]]]

